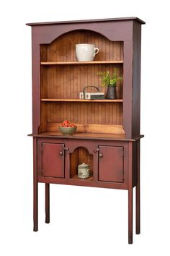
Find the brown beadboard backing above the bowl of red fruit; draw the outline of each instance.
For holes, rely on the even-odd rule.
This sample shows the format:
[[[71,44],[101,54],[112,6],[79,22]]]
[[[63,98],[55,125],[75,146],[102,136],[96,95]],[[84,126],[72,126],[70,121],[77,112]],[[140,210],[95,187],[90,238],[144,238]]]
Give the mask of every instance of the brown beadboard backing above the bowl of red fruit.
[[[81,124],[122,124],[122,103],[48,103],[48,122],[60,123],[63,119]]]

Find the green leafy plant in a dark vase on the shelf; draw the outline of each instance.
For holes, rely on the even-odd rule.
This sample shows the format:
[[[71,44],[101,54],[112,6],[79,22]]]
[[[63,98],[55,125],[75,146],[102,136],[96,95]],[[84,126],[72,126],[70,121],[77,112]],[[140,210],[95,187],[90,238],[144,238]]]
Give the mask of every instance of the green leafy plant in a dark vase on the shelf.
[[[117,77],[117,69],[110,74],[109,71],[99,72],[99,76],[101,76],[100,80],[102,81],[102,86],[107,86],[107,93],[105,98],[107,99],[116,99],[116,83],[117,81],[122,80],[122,77]]]

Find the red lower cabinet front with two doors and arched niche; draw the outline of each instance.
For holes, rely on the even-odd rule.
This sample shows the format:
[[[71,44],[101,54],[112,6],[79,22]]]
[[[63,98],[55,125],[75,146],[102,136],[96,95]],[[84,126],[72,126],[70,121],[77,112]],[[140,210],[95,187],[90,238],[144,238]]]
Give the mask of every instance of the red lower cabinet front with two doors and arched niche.
[[[124,151],[127,146],[122,142],[101,144],[100,141],[40,139],[37,143],[37,176],[43,182],[62,184],[125,185],[127,158],[124,158]],[[89,165],[91,176],[88,179],[78,178],[81,163]]]

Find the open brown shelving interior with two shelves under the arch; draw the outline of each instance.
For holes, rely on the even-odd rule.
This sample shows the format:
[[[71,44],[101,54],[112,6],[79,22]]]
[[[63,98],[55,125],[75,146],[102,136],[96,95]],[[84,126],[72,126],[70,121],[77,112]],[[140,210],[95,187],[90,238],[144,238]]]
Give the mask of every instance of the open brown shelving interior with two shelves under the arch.
[[[77,61],[76,43],[94,43],[99,54],[94,61]],[[122,127],[123,82],[117,82],[116,100],[79,99],[84,87],[101,86],[99,72],[117,69],[123,76],[123,42],[111,41],[90,30],[75,30],[50,44],[40,45],[41,125],[39,132],[58,132],[68,119],[77,132],[125,134]],[[86,92],[95,92],[94,88]],[[88,129],[86,128],[88,127]]]

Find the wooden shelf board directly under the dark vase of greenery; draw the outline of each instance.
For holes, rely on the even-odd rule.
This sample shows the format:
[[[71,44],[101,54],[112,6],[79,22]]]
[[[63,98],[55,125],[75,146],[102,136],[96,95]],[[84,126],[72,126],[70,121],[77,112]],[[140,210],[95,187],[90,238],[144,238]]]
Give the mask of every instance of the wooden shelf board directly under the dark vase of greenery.
[[[80,98],[41,98],[41,101],[45,101],[45,102],[64,102],[64,101],[68,101],[68,102],[122,102],[122,99],[116,99],[116,100],[84,100],[84,99],[80,99]]]

